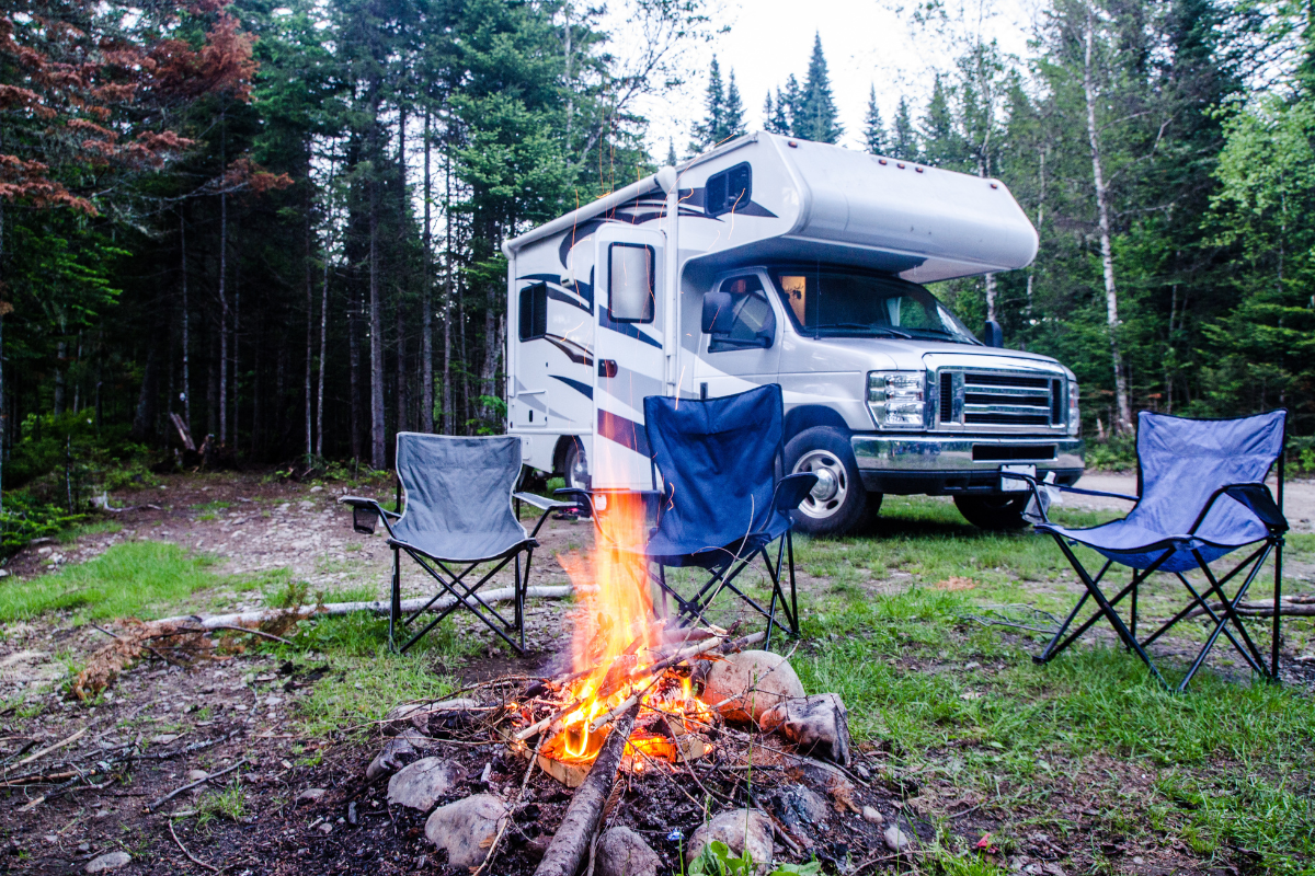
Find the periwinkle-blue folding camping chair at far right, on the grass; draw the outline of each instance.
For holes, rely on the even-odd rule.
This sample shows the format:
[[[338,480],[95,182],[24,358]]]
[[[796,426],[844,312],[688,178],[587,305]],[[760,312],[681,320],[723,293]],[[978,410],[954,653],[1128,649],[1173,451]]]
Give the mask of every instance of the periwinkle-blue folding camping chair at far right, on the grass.
[[[1160,670],[1147,654],[1147,647],[1174,624],[1199,609],[1212,623],[1206,644],[1201,647],[1187,675],[1178,684],[1181,692],[1201,668],[1220,633],[1247,661],[1248,666],[1269,680],[1278,680],[1279,616],[1283,566],[1283,427],[1287,411],[1278,410],[1258,416],[1235,420],[1189,420],[1143,411],[1137,416],[1137,495],[1059,487],[1038,483],[1024,474],[1009,473],[1031,485],[1034,499],[1030,511],[1039,507],[1040,523],[1036,532],[1048,533],[1064,552],[1073,571],[1086,586],[1086,592],[1060,625],[1059,632],[1040,655],[1039,663],[1049,662],[1072,645],[1101,617],[1110,621],[1123,645],[1136,651],[1151,672],[1169,687]],[[1274,502],[1265,475],[1278,464],[1278,502]],[[1066,493],[1102,495],[1136,502],[1122,520],[1091,527],[1066,529],[1045,519],[1045,491],[1060,489]],[[1073,554],[1072,545],[1086,545],[1101,556],[1105,565],[1093,577]],[[1256,545],[1237,566],[1223,577],[1216,577],[1210,563],[1240,548]],[[1265,658],[1252,641],[1237,605],[1260,574],[1261,566],[1274,554],[1274,620],[1270,659]],[[1101,582],[1111,565],[1132,569],[1131,582],[1114,598],[1106,595]],[[1199,569],[1208,587],[1198,591],[1184,575]],[[1174,575],[1191,595],[1191,600],[1153,633],[1137,640],[1137,588],[1151,575],[1162,571]],[[1233,596],[1224,592],[1224,584],[1241,575]],[[1115,607],[1130,600],[1131,624],[1124,624]],[[1088,598],[1097,604],[1097,612],[1073,633],[1065,637]],[[1218,611],[1210,600],[1218,598]]]

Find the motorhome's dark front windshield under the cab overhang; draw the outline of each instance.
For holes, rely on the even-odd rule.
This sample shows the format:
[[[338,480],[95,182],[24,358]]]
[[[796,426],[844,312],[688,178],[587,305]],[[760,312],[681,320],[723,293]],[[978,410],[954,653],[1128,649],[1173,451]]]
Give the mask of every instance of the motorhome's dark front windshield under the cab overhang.
[[[935,296],[890,274],[777,268],[772,278],[800,331],[814,338],[923,338],[978,344]]]

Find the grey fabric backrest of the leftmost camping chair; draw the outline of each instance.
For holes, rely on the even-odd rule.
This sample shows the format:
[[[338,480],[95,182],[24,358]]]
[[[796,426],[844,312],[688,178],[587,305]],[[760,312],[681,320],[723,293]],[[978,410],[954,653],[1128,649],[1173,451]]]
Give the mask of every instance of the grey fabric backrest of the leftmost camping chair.
[[[521,477],[518,437],[398,432],[397,477],[406,491],[397,527],[405,531],[525,535],[512,511]]]

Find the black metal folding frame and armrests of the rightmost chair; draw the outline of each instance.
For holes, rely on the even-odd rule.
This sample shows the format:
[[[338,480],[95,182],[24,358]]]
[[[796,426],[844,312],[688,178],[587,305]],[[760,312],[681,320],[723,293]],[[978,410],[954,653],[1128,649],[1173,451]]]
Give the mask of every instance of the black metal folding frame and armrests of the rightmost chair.
[[[1283,447],[1286,448],[1286,443]],[[1036,478],[1026,474],[1005,473],[1003,477],[1011,477],[1028,482],[1028,486],[1031,487],[1031,491],[1036,498],[1038,508],[1041,510],[1043,520],[1045,519],[1045,506],[1041,503],[1039,495],[1039,489],[1041,486],[1049,489],[1060,489],[1064,490],[1065,493],[1101,495],[1116,499],[1128,499],[1132,502],[1140,500],[1137,496],[1128,496],[1116,493],[1098,493],[1094,490],[1078,490],[1076,487],[1063,487],[1053,483],[1039,483]],[[1153,633],[1151,633],[1148,637],[1140,641],[1137,640],[1137,590],[1141,586],[1141,583],[1145,582],[1145,579],[1149,578],[1152,573],[1159,570],[1160,566],[1164,565],[1164,562],[1168,561],[1169,557],[1172,557],[1180,548],[1187,546],[1190,544],[1190,538],[1173,540],[1165,542],[1164,545],[1160,545],[1164,548],[1164,553],[1161,553],[1145,569],[1141,570],[1134,569],[1132,579],[1128,582],[1128,584],[1124,586],[1123,590],[1120,590],[1118,594],[1115,594],[1112,599],[1110,599],[1109,596],[1106,596],[1105,591],[1101,590],[1101,580],[1105,578],[1105,574],[1110,570],[1110,566],[1114,565],[1114,561],[1106,559],[1105,565],[1101,567],[1101,571],[1097,573],[1095,577],[1093,578],[1091,574],[1082,565],[1082,562],[1077,558],[1077,556],[1074,556],[1070,548],[1072,544],[1081,544],[1081,542],[1065,540],[1064,536],[1055,532],[1049,533],[1055,538],[1055,544],[1060,546],[1060,550],[1064,553],[1065,559],[1068,559],[1069,565],[1073,567],[1073,571],[1077,573],[1078,578],[1082,580],[1082,584],[1086,587],[1086,592],[1082,594],[1082,598],[1078,599],[1077,604],[1073,607],[1073,611],[1070,611],[1068,617],[1064,619],[1064,623],[1060,624],[1059,630],[1056,630],[1053,638],[1051,638],[1045,649],[1040,654],[1034,655],[1032,659],[1036,663],[1048,663],[1057,654],[1064,651],[1069,645],[1076,642],[1077,638],[1088,629],[1090,629],[1093,624],[1105,617],[1106,620],[1110,621],[1110,625],[1114,628],[1114,632],[1118,633],[1119,640],[1123,642],[1124,647],[1131,651],[1136,651],[1137,657],[1141,658],[1141,661],[1151,670],[1151,674],[1155,675],[1161,684],[1180,693],[1184,690],[1186,690],[1187,684],[1197,674],[1197,670],[1199,670],[1202,663],[1205,663],[1206,657],[1210,654],[1211,649],[1214,649],[1215,642],[1218,641],[1220,633],[1223,633],[1228,638],[1233,649],[1243,657],[1243,659],[1247,661],[1247,665],[1251,666],[1251,668],[1256,674],[1258,674],[1260,676],[1265,678],[1269,682],[1277,683],[1278,668],[1279,668],[1278,647],[1281,642],[1281,623],[1279,623],[1278,609],[1279,609],[1279,599],[1282,595],[1283,533],[1287,531],[1287,521],[1283,519],[1282,515],[1283,449],[1281,449],[1278,454],[1277,503],[1270,495],[1269,487],[1266,487],[1264,483],[1232,483],[1220,487],[1206,502],[1206,507],[1197,516],[1197,520],[1191,525],[1191,529],[1186,533],[1187,536],[1195,535],[1197,529],[1205,521],[1206,515],[1210,514],[1210,510],[1214,507],[1215,502],[1224,495],[1231,496],[1237,502],[1243,503],[1244,506],[1247,506],[1248,508],[1251,508],[1251,511],[1260,519],[1260,521],[1265,524],[1268,535],[1264,538],[1252,542],[1252,544],[1258,544],[1260,546],[1252,550],[1252,553],[1245,559],[1237,563],[1223,578],[1215,578],[1214,571],[1210,569],[1205,557],[1202,557],[1201,550],[1197,548],[1190,548],[1198,567],[1206,577],[1206,582],[1210,586],[1205,590],[1205,592],[1198,592],[1197,588],[1191,586],[1191,582],[1189,582],[1187,578],[1181,571],[1169,573],[1174,575],[1182,583],[1184,588],[1186,588],[1186,591],[1191,595],[1191,602],[1187,603],[1186,608],[1180,611],[1172,619],[1160,625],[1159,629],[1156,629]],[[1159,546],[1152,549],[1157,548]],[[1247,632],[1247,626],[1243,624],[1241,616],[1237,613],[1237,605],[1241,604],[1241,600],[1245,598],[1247,591],[1256,580],[1261,567],[1265,565],[1265,561],[1269,559],[1270,553],[1274,554],[1274,616],[1273,616],[1273,629],[1272,629],[1272,642],[1270,642],[1270,658],[1269,658],[1269,665],[1266,666],[1264,655],[1256,646],[1251,634]],[[1233,596],[1230,598],[1224,591],[1224,584],[1236,578],[1244,570],[1247,571],[1247,575],[1243,579],[1243,583],[1237,587],[1237,591],[1233,594]],[[1130,595],[1131,595],[1131,608],[1130,608],[1131,625],[1124,624],[1123,619],[1119,617],[1119,613],[1115,611],[1115,605],[1118,605],[1120,602],[1123,602],[1124,598]],[[1078,612],[1082,611],[1082,605],[1086,604],[1089,596],[1097,604],[1095,613],[1088,617],[1086,621],[1084,621],[1076,630],[1073,630],[1065,637],[1065,633],[1068,632],[1073,621],[1077,619]],[[1222,609],[1220,613],[1216,613],[1215,609],[1211,607],[1208,602],[1211,596],[1218,596]],[[1191,611],[1197,608],[1201,608],[1206,615],[1210,616],[1210,620],[1214,621],[1214,629],[1211,629],[1210,636],[1206,638],[1206,644],[1197,653],[1195,659],[1193,659],[1191,667],[1187,670],[1186,676],[1184,676],[1184,679],[1174,688],[1165,680],[1164,675],[1160,674],[1159,667],[1155,665],[1155,662],[1151,659],[1151,655],[1147,653],[1147,647],[1149,647],[1151,644],[1155,642],[1157,638],[1160,638],[1165,632],[1168,632],[1169,628],[1172,628],[1174,624],[1185,619]],[[1230,629],[1230,624],[1233,626],[1233,629],[1236,629],[1236,633],[1237,636],[1241,637],[1241,641],[1239,641],[1237,636],[1233,634],[1233,629]]]

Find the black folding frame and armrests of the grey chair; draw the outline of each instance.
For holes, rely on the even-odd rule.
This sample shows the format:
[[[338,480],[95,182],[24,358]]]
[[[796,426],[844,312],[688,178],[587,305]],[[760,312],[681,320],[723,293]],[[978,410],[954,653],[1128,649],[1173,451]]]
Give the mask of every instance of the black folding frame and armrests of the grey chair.
[[[419,641],[421,637],[423,637],[431,629],[438,626],[438,624],[442,623],[444,617],[451,615],[458,608],[467,608],[471,611],[471,613],[473,613],[476,617],[484,621],[485,626],[497,633],[502,638],[502,641],[506,642],[513,650],[515,650],[518,654],[525,654],[525,599],[530,588],[530,565],[534,562],[534,549],[539,546],[539,542],[535,538],[539,535],[539,529],[543,527],[544,521],[548,519],[548,515],[552,511],[571,508],[573,506],[571,503],[551,502],[548,499],[537,496],[530,493],[517,493],[513,495],[513,499],[515,500],[517,517],[519,517],[519,510],[522,502],[543,511],[543,514],[539,515],[538,523],[535,523],[534,525],[534,531],[530,532],[529,540],[522,542],[513,550],[509,550],[505,554],[497,557],[488,557],[484,559],[475,559],[475,561],[443,559],[439,557],[433,557],[405,542],[396,541],[391,521],[400,519],[401,517],[400,512],[388,511],[383,508],[373,499],[364,499],[359,496],[343,496],[342,499],[339,499],[339,502],[351,506],[352,528],[356,532],[373,535],[375,524],[379,520],[384,521],[384,528],[388,531],[389,546],[393,550],[393,575],[392,575],[392,587],[388,604],[389,649],[401,654],[406,653],[406,649],[409,649],[412,645]],[[398,508],[401,508],[401,503],[402,503],[402,490],[401,490],[401,481],[398,481],[397,483]],[[414,559],[416,565],[419,566],[426,574],[429,574],[430,578],[437,580],[438,584],[442,587],[442,590],[435,592],[429,599],[429,602],[426,602],[421,608],[418,608],[417,611],[412,612],[409,616],[405,617],[402,616],[402,591],[401,591],[402,552],[405,552],[412,559]],[[521,554],[525,554],[523,569],[521,565]],[[510,621],[506,617],[504,617],[501,612],[498,612],[490,604],[484,602],[477,592],[479,588],[487,584],[489,580],[492,580],[497,573],[502,571],[502,569],[505,569],[509,562],[515,563],[515,613],[513,616],[513,620]],[[467,584],[466,577],[487,563],[497,563],[497,565],[493,566],[493,569],[489,570],[487,574],[484,574],[484,577],[480,578],[479,582],[476,582],[473,586]],[[460,566],[466,567],[462,569],[462,571],[459,573],[452,570],[452,567],[460,567]],[[421,615],[429,611],[430,607],[443,596],[450,596],[452,599],[452,604],[438,612],[438,616],[434,617],[429,624],[426,624],[423,629],[412,636],[405,645],[397,647],[397,641],[396,641],[397,633],[401,629],[410,626],[412,623],[414,623]],[[476,607],[476,604],[479,605],[479,608]],[[485,616],[480,611],[480,608],[492,615],[493,619],[497,620],[497,623]],[[498,624],[501,624],[501,628],[498,626]],[[518,641],[513,641],[512,637],[508,636],[508,633],[513,632],[517,633]]]

